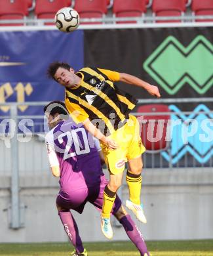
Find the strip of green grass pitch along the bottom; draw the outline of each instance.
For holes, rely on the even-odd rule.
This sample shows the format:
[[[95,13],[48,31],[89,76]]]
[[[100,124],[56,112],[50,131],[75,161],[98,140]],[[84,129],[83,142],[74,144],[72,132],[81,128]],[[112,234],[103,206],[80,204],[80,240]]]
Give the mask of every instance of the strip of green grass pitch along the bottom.
[[[88,256],[140,256],[130,242],[84,243]],[[152,256],[213,256],[213,240],[147,242]],[[0,244],[0,255],[69,256],[69,243]]]

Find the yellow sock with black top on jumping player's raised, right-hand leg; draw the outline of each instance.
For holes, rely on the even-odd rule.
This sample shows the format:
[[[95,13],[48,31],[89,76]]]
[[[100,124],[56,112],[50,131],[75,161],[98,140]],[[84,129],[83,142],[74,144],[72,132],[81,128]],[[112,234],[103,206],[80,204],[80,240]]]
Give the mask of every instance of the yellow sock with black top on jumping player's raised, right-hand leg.
[[[140,204],[140,192],[142,189],[142,176],[126,172],[126,183],[130,194],[132,203]]]

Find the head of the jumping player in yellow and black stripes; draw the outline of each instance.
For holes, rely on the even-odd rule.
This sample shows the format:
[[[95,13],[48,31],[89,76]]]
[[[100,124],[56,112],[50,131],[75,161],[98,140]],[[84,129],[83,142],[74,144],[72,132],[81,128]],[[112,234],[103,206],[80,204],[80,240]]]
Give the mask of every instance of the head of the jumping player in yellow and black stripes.
[[[68,63],[53,62],[47,70],[48,77],[54,79],[64,87],[73,87],[76,84],[77,75]]]

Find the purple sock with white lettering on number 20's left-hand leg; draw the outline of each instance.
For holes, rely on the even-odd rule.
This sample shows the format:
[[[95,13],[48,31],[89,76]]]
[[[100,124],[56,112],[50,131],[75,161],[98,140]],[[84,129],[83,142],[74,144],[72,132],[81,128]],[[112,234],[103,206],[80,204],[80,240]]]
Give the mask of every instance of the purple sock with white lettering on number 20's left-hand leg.
[[[79,229],[75,222],[75,219],[71,215],[70,211],[58,211],[58,215],[62,221],[64,226],[64,230],[68,234],[70,242],[74,245],[77,253],[82,253],[84,251],[84,247],[79,236]]]

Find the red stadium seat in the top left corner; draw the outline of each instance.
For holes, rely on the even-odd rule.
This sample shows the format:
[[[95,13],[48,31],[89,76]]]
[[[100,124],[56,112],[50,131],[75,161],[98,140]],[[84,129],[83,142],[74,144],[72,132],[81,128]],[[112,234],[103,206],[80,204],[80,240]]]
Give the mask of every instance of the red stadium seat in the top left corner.
[[[0,20],[23,20],[28,16],[28,2],[26,0],[1,0]],[[23,23],[7,23],[0,26],[23,26]]]

